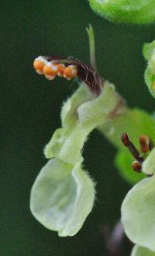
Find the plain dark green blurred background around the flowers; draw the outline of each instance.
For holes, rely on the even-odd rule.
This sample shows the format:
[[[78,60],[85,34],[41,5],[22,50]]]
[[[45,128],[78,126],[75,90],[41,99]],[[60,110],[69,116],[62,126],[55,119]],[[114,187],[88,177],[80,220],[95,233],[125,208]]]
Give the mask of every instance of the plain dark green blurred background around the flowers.
[[[29,212],[29,191],[47,162],[43,146],[60,127],[62,102],[73,82],[49,82],[33,71],[41,54],[89,61],[85,27],[94,27],[98,69],[129,106],[154,110],[143,81],[143,42],[155,26],[123,26],[96,16],[85,0],[1,2],[1,245],[2,256],[106,256],[102,226],[119,219],[129,186],[112,165],[115,149],[98,132],[84,147],[84,164],[97,182],[93,211],[74,237],[61,238]]]

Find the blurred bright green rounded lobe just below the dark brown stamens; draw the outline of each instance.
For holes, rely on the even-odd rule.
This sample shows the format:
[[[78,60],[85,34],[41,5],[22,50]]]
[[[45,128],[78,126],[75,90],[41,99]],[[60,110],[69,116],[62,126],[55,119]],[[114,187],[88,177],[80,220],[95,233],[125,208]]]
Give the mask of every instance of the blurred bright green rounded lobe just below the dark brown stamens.
[[[115,165],[119,169],[119,173],[129,184],[136,184],[141,181],[143,177],[146,177],[144,174],[137,174],[131,163],[133,162],[133,156],[129,153],[128,149],[120,150],[119,153],[115,156]]]

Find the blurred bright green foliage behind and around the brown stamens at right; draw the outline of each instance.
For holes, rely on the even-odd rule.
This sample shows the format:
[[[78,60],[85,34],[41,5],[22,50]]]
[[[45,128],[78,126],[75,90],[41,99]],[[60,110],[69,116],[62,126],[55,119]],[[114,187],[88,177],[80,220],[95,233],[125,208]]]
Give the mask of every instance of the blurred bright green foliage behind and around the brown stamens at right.
[[[135,184],[145,176],[144,174],[136,174],[133,171],[132,162],[135,159],[129,153],[129,149],[122,146],[121,135],[123,132],[126,132],[136,148],[140,149],[140,135],[149,135],[154,140],[154,127],[155,121],[150,114],[143,110],[131,109],[110,121],[105,131],[102,131],[119,149],[115,157],[115,164],[118,167],[119,173],[129,184]]]

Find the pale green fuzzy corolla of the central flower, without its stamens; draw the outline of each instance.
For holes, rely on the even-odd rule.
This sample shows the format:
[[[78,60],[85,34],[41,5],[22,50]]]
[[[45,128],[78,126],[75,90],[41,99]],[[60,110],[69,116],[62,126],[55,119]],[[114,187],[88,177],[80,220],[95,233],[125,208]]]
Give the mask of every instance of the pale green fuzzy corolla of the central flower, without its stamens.
[[[54,132],[45,147],[45,156],[52,160],[40,171],[31,191],[33,216],[63,237],[77,233],[91,212],[95,184],[81,168],[81,150],[92,129],[106,122],[107,114],[117,103],[115,89],[108,82],[95,99],[87,90],[81,84],[64,103],[63,127]]]

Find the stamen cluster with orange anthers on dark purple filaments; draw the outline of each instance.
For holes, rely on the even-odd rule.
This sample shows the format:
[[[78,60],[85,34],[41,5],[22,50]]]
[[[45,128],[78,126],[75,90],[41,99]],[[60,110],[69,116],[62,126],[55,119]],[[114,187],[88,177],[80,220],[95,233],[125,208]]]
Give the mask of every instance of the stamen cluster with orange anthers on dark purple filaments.
[[[33,67],[36,72],[44,74],[46,78],[50,80],[54,79],[56,75],[63,76],[67,80],[77,76],[81,81],[84,81],[96,95],[101,93],[104,85],[104,79],[98,75],[98,72],[96,72],[94,68],[71,57],[38,57],[33,62]]]

